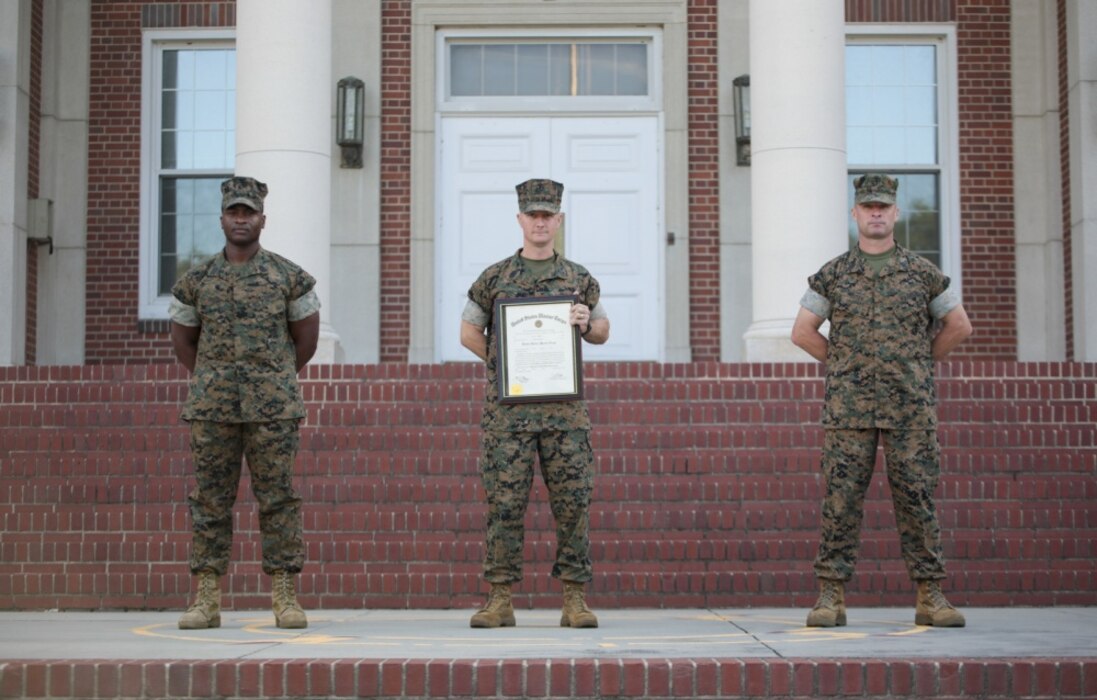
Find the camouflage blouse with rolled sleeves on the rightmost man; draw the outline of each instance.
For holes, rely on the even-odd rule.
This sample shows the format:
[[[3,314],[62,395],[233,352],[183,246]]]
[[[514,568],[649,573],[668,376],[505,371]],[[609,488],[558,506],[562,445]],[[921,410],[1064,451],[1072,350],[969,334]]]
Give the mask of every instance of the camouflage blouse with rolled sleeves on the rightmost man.
[[[935,320],[960,304],[949,278],[896,246],[879,274],[852,250],[807,284],[801,305],[830,320],[823,426],[935,428]]]

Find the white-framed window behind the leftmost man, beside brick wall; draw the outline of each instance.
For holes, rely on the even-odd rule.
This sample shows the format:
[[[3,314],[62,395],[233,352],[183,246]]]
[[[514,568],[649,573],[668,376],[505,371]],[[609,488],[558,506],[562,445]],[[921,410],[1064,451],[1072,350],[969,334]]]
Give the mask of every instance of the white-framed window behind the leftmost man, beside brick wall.
[[[236,52],[226,38],[146,36],[140,315],[224,246],[220,181],[236,159]]]

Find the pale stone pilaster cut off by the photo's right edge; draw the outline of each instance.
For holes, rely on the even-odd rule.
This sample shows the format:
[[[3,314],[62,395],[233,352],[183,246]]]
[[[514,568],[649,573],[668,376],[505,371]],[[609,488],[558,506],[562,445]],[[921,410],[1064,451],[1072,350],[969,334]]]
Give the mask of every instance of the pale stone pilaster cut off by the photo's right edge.
[[[1074,360],[1097,361],[1097,2],[1066,2]]]

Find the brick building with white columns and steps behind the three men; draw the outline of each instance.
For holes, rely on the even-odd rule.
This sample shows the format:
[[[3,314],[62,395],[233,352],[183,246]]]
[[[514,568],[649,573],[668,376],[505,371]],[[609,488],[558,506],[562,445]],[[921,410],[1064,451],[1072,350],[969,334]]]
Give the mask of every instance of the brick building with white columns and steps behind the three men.
[[[1097,602],[1095,27],[1088,0],[4,0],[0,493],[21,538],[0,595],[185,598],[167,295],[219,249],[236,172],[270,184],[263,242],[324,302],[306,595],[477,594],[483,374],[457,317],[518,245],[513,184],[552,177],[559,246],[613,320],[587,357],[618,501],[596,590],[803,602],[821,372],[788,336],[807,274],[849,245],[851,179],[886,170],[901,242],[975,327],[941,368],[955,599]],[[890,602],[886,512],[866,558],[887,584],[863,589]],[[389,564],[348,584],[360,560]]]

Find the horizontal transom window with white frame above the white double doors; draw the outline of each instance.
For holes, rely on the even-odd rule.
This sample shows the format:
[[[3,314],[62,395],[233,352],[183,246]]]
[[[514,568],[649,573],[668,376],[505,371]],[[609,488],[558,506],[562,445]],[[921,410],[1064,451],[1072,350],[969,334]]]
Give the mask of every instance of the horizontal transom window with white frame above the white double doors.
[[[654,110],[657,35],[440,34],[444,110]]]

